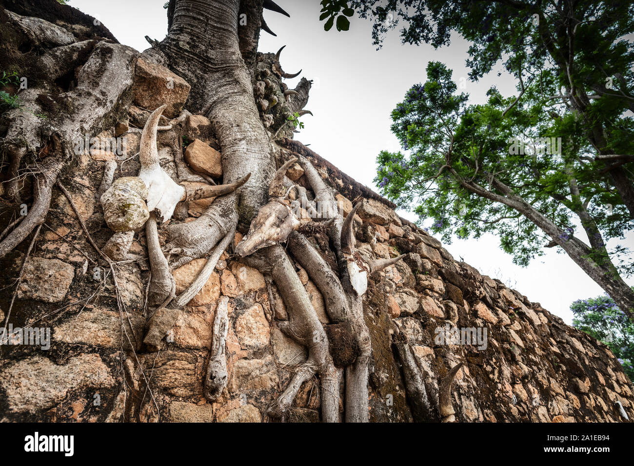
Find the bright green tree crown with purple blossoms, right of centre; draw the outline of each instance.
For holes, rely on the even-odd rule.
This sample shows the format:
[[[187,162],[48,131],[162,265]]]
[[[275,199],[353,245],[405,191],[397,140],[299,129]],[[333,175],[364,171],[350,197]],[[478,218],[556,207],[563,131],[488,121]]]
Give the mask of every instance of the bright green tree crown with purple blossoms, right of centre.
[[[573,115],[555,104],[544,111],[554,86],[552,73],[543,72],[541,82],[527,87],[521,101],[503,98],[492,88],[485,105],[471,106],[467,94],[457,93],[451,70],[442,63],[429,63],[427,79],[412,86],[392,112],[392,131],[405,153],[378,155],[375,182],[382,193],[404,209],[414,205],[421,219],[434,219],[432,231],[445,242],[451,242],[452,234],[478,238],[496,233],[503,249],[522,266],[543,255],[553,239],[580,241],[574,231],[581,219],[593,259],[609,267],[605,242],[623,238],[634,224],[618,194],[595,178],[593,164],[598,162],[581,159],[589,148]],[[631,131],[631,119],[622,120],[619,124]],[[509,205],[495,181],[532,209]],[[532,210],[556,226],[558,238],[549,235],[546,222],[527,221]],[[628,249],[611,253],[630,275]]]

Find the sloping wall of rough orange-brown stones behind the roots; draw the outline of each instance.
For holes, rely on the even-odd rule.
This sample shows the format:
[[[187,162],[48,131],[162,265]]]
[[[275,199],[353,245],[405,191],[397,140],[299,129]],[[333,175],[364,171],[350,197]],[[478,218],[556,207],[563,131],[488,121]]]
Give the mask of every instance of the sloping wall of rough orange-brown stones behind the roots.
[[[100,248],[112,236],[98,199],[104,164],[116,160],[115,178],[136,176],[139,128],[149,114],[141,107],[168,103],[174,117],[189,92],[186,82],[152,64],[139,62],[137,78],[133,89],[136,105],[129,108],[127,119],[98,135],[104,140],[122,138],[126,157],[116,157],[112,150],[86,150],[75,157],[61,177]],[[165,91],[165,82],[170,80],[177,85]],[[159,87],[162,94],[153,92]],[[158,96],[160,101],[152,100]],[[221,181],[220,148],[211,127],[202,115],[190,115],[174,120],[172,129],[160,131],[161,164],[172,178],[198,183]],[[408,253],[404,261],[370,276],[364,298],[365,319],[372,335],[370,420],[422,420],[411,409],[397,346],[407,347],[413,354],[434,408],[439,381],[456,363],[464,363],[452,395],[459,421],[624,421],[621,406],[628,417],[634,417],[634,387],[604,344],[567,326],[499,280],[455,261],[436,238],[400,219],[390,202],[306,146],[283,139],[280,147],[280,160],[301,153],[313,162],[325,181],[338,191],[344,214],[352,209],[354,201],[365,199],[354,222],[357,247],[364,259]],[[197,167],[213,169],[201,174],[196,172]],[[307,185],[299,165],[292,167],[288,177]],[[29,192],[30,186],[25,184],[25,198]],[[208,206],[209,201],[181,205],[172,222],[192,221]],[[10,210],[3,212],[2,224],[8,224]],[[304,223],[309,220],[302,219]],[[304,232],[332,264],[325,235],[318,228],[311,231],[306,227]],[[236,233],[234,245],[240,237]],[[27,247],[28,242],[24,242],[0,262],[5,271],[0,277],[2,321]],[[126,308],[120,313],[110,269],[97,265],[99,257],[87,242],[70,204],[54,190],[51,210],[26,261],[10,318],[14,330],[49,328],[51,344],[48,349],[26,344],[0,347],[0,419],[269,420],[267,406],[281,394],[295,367],[306,359],[306,348],[278,330],[276,323],[288,317],[275,285],[256,269],[236,261],[232,250],[233,245],[224,252],[204,288],[178,312],[163,346],[148,351],[142,344],[149,275],[144,233],[134,236],[129,252],[135,258],[115,268]],[[194,280],[204,262],[197,259],[174,271],[177,293]],[[328,326],[318,288],[297,263],[296,270],[320,321]],[[221,296],[229,299],[229,380],[221,397],[210,404],[202,393],[202,379]],[[486,339],[462,342],[469,344],[452,339],[456,329],[470,328],[486,330]],[[320,420],[319,389],[318,380],[306,382],[287,420]]]

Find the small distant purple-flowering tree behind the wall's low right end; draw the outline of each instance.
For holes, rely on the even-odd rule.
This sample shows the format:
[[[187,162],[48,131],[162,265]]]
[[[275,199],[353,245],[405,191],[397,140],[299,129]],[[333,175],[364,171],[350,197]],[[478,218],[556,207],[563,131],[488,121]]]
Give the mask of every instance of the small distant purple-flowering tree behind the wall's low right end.
[[[574,313],[574,327],[604,342],[630,380],[634,380],[634,325],[614,300],[607,295],[579,299],[570,309]]]

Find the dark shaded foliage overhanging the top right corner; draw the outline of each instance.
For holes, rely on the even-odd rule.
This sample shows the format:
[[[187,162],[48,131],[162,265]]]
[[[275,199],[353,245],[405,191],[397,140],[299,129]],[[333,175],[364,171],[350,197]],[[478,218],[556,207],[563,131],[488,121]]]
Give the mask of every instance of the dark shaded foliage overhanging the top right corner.
[[[547,71],[549,101],[575,115],[577,133],[591,149],[582,156],[597,162],[588,168],[634,217],[633,134],[619,118],[634,112],[633,3],[353,0],[351,6],[372,19],[377,46],[391,29],[400,29],[404,43],[434,47],[448,45],[451,32],[465,37],[473,81],[502,61],[522,96],[524,83],[541,85]]]

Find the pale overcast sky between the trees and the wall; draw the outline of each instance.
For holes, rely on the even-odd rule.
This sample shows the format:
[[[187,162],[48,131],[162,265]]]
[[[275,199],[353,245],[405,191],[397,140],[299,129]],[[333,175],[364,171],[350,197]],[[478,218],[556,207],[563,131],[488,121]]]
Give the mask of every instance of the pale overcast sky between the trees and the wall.
[[[162,39],[167,32],[164,0],[70,0],[70,5],[103,22],[123,44],[139,51],[148,48],[144,36]],[[451,45],[434,50],[430,46],[402,45],[398,32],[385,39],[377,51],[372,45],[372,25],[366,20],[352,18],[350,30],[323,30],[319,21],[319,0],[278,0],[291,17],[266,11],[264,17],[277,37],[262,32],[259,49],[277,51],[286,45],[281,65],[286,72],[302,74],[287,80],[290,88],[306,77],[313,79],[306,108],[314,117],[306,115],[306,127],[297,140],[311,145],[311,149],[339,167],[351,177],[378,191],[373,184],[376,174],[375,157],[380,150],[398,151],[398,140],[390,132],[390,113],[412,84],[425,82],[425,67],[429,61],[443,61],[453,70],[453,79],[460,83],[467,77],[465,67],[468,44],[454,36]],[[460,89],[470,94],[471,103],[484,103],[485,93],[492,85],[503,96],[516,94],[515,82],[504,72],[500,77],[493,70],[477,83],[466,82]],[[399,212],[412,221],[408,212]],[[429,226],[429,225],[425,225]],[[577,232],[579,234],[579,232]],[[586,240],[585,236],[581,236]],[[616,244],[634,249],[634,233]],[[481,273],[499,278],[502,282],[540,302],[545,309],[571,323],[571,302],[579,298],[603,293],[588,276],[565,254],[548,249],[547,254],[535,259],[528,268],[512,263],[512,257],[500,249],[500,241],[493,235],[479,240],[456,238],[446,249],[479,269]],[[634,285],[632,278],[626,280]]]

